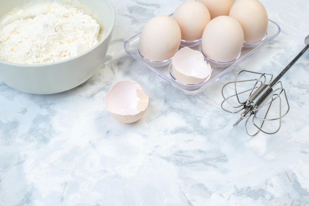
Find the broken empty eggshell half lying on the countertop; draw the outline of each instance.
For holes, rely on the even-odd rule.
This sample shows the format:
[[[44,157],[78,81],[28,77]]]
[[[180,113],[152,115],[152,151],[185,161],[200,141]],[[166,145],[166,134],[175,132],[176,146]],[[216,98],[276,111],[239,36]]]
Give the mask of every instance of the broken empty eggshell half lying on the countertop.
[[[131,80],[116,82],[105,97],[106,109],[122,123],[133,123],[141,119],[148,104],[148,95],[136,81]]]

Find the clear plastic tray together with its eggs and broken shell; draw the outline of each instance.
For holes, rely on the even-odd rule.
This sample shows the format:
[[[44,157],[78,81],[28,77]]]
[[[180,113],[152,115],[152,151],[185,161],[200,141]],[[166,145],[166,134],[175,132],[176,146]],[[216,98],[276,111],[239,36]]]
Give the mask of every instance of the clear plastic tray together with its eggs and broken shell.
[[[151,18],[124,49],[181,92],[196,95],[279,33],[258,0],[188,0],[171,15]]]

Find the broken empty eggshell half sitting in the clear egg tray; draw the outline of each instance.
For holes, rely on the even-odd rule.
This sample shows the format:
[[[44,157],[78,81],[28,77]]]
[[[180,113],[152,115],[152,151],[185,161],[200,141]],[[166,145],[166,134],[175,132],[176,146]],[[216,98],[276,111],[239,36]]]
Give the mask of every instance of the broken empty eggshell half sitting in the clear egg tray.
[[[172,60],[172,71],[178,81],[197,84],[206,80],[212,69],[204,61],[202,53],[189,47],[183,47],[175,54]]]

